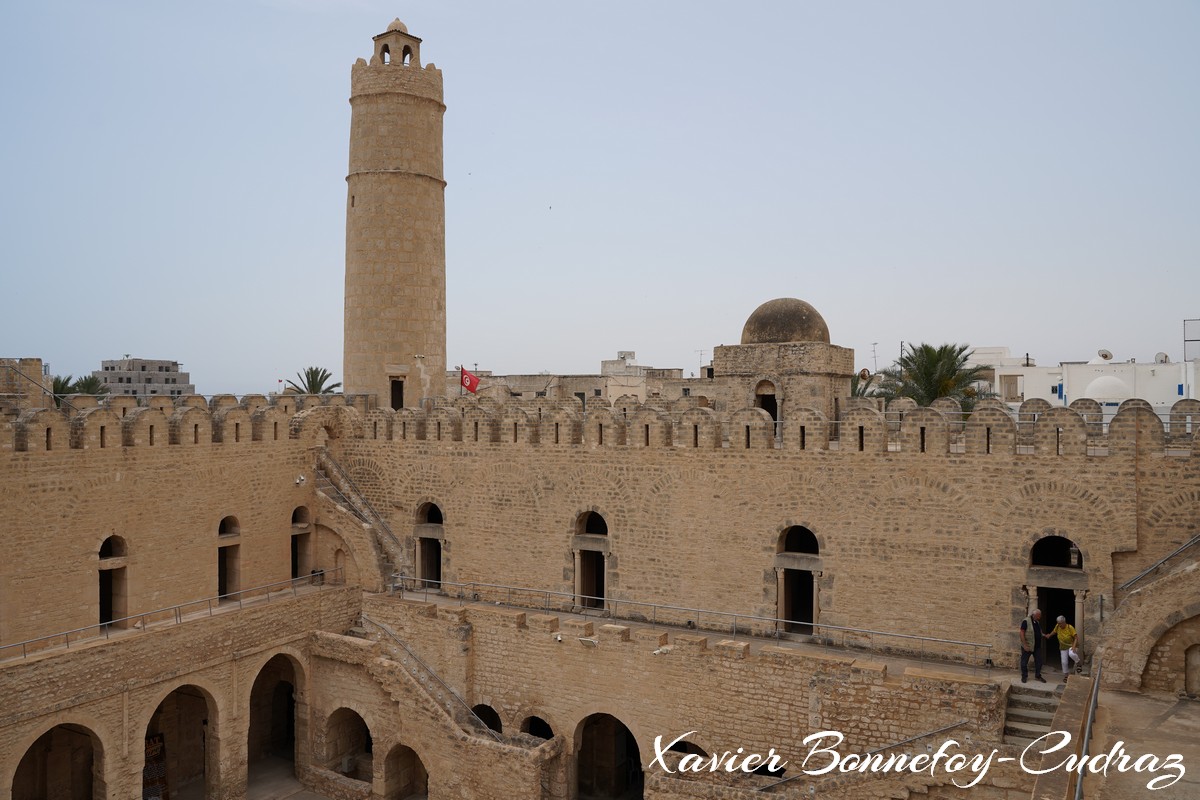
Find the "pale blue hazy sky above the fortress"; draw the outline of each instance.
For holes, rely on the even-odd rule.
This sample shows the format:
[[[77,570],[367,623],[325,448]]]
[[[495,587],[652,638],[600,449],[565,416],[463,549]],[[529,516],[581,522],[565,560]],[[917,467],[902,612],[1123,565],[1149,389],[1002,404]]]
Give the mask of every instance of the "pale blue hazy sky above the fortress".
[[[397,16],[451,365],[690,372],[776,296],[869,368],[1178,359],[1200,317],[1196,2],[52,0],[0,28],[0,356],[340,379],[349,68]]]

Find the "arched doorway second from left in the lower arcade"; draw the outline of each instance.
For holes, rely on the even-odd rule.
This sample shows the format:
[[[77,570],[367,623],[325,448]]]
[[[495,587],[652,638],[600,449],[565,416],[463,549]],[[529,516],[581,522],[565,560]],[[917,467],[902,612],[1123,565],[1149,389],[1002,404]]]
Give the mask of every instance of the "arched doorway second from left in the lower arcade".
[[[184,789],[209,796],[220,784],[216,706],[198,686],[163,698],[146,723],[143,800],[176,798]]]

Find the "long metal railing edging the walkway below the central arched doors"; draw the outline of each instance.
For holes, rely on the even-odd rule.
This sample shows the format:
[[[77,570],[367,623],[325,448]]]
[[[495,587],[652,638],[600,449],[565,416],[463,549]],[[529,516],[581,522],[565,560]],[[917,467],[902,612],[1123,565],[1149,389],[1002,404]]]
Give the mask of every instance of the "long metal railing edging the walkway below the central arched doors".
[[[456,594],[451,595],[448,589],[456,590]],[[508,587],[496,583],[430,581],[398,573],[392,576],[391,590],[392,593],[400,593],[401,596],[404,593],[420,594],[426,600],[430,593],[433,593],[452,596],[462,602],[488,602],[511,606],[514,608],[535,608],[545,612],[566,612],[583,615],[595,614],[611,619],[647,622],[654,626],[671,625],[688,630],[727,632],[733,638],[737,638],[739,634],[760,638],[780,638],[785,633],[800,633],[809,636],[812,643],[823,646],[859,648],[877,651],[890,650],[896,655],[916,656],[924,660],[961,662],[965,658],[958,654],[970,648],[971,657],[967,663],[971,664],[972,669],[978,667],[991,668],[992,645],[979,642],[941,639],[913,633],[824,625],[778,616],[719,612],[686,606],[670,606],[666,603],[647,603],[613,597],[575,595],[547,589]],[[883,644],[880,642],[881,639],[894,642],[894,644]],[[930,645],[940,646],[935,648]],[[935,650],[940,650],[941,654],[936,654]]]

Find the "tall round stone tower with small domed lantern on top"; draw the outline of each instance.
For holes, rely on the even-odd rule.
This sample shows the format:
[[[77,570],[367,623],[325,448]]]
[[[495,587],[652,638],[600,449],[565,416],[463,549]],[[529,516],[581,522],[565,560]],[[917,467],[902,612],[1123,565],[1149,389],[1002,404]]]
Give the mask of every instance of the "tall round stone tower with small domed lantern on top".
[[[398,19],[350,70],[344,391],[413,408],[445,384],[442,71]]]

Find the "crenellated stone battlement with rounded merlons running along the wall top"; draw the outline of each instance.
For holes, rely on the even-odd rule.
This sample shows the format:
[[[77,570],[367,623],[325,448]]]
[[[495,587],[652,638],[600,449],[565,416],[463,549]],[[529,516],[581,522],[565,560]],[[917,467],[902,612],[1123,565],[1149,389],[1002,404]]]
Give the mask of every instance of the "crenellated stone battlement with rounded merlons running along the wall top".
[[[347,402],[354,403],[348,405]],[[66,398],[64,408],[30,408],[8,423],[4,450],[46,452],[199,444],[251,444],[307,438],[395,441],[401,446],[610,447],[648,450],[824,451],[919,456],[1105,457],[1162,452],[1195,456],[1200,401],[1175,404],[1166,425],[1145,401],[1127,401],[1110,423],[1075,408],[1032,408],[1015,416],[996,405],[959,419],[937,408],[888,414],[853,408],[830,421],[815,409],[792,409],[781,422],[757,408],[719,413],[690,403],[662,408],[622,397],[612,407],[577,399],[498,404],[487,398],[439,398],[425,409],[372,409],[366,398],[217,395],[162,398]],[[1031,405],[1027,403],[1026,405]]]

